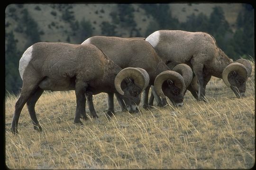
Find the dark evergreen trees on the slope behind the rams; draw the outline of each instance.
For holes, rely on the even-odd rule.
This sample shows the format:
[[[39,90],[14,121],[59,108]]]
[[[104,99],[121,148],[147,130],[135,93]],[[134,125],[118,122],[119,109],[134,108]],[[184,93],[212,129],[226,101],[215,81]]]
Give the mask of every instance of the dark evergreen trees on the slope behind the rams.
[[[192,14],[187,17],[186,22],[179,22],[177,18],[173,17],[171,9],[166,4],[141,4],[138,7],[143,8],[146,15],[154,19],[150,21],[145,34],[142,34],[137,28],[137,23],[134,20],[134,11],[138,9],[135,9],[131,4],[118,4],[118,10],[110,13],[111,22],[103,21],[100,24],[101,35],[122,37],[123,34],[117,31],[118,27],[127,30],[130,37],[146,37],[161,29],[202,31],[211,34],[229,58],[234,60],[239,58],[254,59],[254,9],[251,5],[243,5],[244,10],[238,14],[235,32],[229,26],[221,7],[214,7],[209,17],[203,13]],[[63,9],[62,19],[70,23],[71,31],[66,32],[66,42],[82,42],[88,37],[96,35],[93,33],[93,26],[90,21],[85,20],[85,18],[81,21],[75,19],[71,10],[72,6],[62,4],[56,8]],[[37,10],[41,9],[38,7]],[[103,14],[104,9],[100,12]],[[15,8],[10,8],[9,15],[13,14],[13,17],[16,17],[14,13]],[[51,12],[51,15],[55,16],[56,13]],[[8,24],[6,23],[6,26]],[[51,26],[55,26],[55,23],[51,23],[48,26],[49,29]],[[40,42],[40,36],[45,34],[38,28],[37,22],[30,16],[26,8],[23,9],[18,26],[13,31],[26,34],[27,47],[35,42]],[[15,39],[13,31],[5,34],[5,85],[8,92],[17,94],[22,85],[18,73],[18,62],[26,49],[18,51],[18,40]],[[70,37],[72,36],[75,37],[73,38],[76,39],[75,42],[71,40]]]

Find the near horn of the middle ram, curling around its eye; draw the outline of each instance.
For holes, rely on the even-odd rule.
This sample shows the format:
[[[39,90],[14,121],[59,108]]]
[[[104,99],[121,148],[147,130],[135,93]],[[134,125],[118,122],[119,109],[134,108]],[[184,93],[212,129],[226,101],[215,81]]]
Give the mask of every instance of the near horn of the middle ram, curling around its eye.
[[[183,77],[175,71],[167,70],[167,71],[163,71],[162,73],[160,73],[155,77],[155,83],[154,83],[155,92],[159,96],[165,98],[165,94],[162,90],[162,85],[165,82],[165,80],[168,80],[168,79],[173,80],[174,85],[180,88],[182,90],[182,93],[184,93],[184,91],[186,90],[186,85]]]

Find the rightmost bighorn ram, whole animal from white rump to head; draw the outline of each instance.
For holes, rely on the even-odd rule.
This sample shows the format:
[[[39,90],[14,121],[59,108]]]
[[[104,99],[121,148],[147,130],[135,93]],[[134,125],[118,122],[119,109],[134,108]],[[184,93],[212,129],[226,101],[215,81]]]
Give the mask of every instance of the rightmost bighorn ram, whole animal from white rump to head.
[[[205,86],[211,76],[222,78],[236,96],[243,97],[252,67],[246,59],[235,62],[217,46],[215,39],[203,32],[159,30],[150,34],[149,42],[165,62],[187,63],[198,79],[198,100],[205,101]]]

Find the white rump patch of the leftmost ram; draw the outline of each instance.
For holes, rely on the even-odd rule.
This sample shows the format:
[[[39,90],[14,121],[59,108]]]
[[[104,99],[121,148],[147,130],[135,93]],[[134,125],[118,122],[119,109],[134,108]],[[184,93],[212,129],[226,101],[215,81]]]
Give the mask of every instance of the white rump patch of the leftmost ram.
[[[32,51],[33,51],[33,47],[32,46],[30,46],[23,53],[22,57],[19,60],[18,70],[19,70],[19,75],[20,75],[22,80],[23,80],[23,73],[24,73],[25,69],[27,68],[27,65],[28,65],[29,61],[32,59]]]

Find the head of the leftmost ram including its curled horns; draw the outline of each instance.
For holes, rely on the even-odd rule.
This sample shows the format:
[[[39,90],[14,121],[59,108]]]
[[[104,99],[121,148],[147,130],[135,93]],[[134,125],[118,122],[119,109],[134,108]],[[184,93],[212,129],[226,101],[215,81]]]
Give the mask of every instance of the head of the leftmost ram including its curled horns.
[[[141,92],[148,86],[149,76],[142,68],[124,68],[115,78],[117,95],[122,98],[129,112],[138,110]]]

